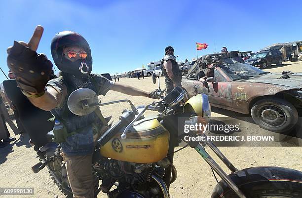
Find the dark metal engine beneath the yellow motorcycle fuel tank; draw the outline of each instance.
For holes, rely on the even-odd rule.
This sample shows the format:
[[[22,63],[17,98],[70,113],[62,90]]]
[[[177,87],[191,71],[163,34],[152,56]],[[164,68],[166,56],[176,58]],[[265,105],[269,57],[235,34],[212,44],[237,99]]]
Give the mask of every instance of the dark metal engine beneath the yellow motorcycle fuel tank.
[[[95,164],[94,171],[102,179],[101,189],[111,198],[119,198],[120,194],[138,193],[144,198],[158,197],[160,189],[151,179],[156,172],[163,176],[164,169],[155,166],[155,163],[134,163],[103,158]],[[111,191],[115,181],[118,188]]]

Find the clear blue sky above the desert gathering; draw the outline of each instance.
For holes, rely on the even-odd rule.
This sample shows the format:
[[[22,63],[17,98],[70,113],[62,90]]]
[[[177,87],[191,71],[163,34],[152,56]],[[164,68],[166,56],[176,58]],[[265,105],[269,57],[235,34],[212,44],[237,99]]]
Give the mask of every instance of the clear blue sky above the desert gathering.
[[[200,56],[302,40],[301,0],[213,1],[2,0],[0,66],[7,74],[6,48],[28,41],[36,25],[44,27],[38,52],[51,61],[52,37],[73,30],[90,43],[93,72],[111,74],[160,60],[168,45],[184,61],[196,57],[196,42],[209,44]]]

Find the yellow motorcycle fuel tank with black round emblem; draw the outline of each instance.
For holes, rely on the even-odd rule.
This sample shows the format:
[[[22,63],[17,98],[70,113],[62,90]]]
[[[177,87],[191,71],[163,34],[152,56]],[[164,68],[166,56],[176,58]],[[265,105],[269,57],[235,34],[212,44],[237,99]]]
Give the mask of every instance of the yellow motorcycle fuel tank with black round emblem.
[[[165,158],[169,149],[169,131],[157,119],[151,118],[146,117],[135,122],[134,125],[139,124],[129,128],[124,140],[120,138],[125,129],[123,127],[109,142],[101,146],[101,155],[136,163],[152,163]],[[147,119],[151,120],[142,122]]]

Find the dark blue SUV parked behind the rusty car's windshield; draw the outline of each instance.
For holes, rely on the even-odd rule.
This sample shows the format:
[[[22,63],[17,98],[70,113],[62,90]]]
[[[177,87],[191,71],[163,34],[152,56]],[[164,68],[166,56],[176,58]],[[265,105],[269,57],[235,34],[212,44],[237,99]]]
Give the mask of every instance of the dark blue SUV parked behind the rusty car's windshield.
[[[260,51],[252,55],[249,59],[245,60],[247,64],[261,69],[266,68],[269,65],[277,64],[281,65],[283,61],[283,55],[279,50]]]

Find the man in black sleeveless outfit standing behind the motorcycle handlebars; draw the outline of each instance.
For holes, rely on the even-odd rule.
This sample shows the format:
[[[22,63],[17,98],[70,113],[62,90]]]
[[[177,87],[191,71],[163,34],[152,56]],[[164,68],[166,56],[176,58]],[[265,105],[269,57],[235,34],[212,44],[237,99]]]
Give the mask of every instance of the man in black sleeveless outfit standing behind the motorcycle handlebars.
[[[165,56],[161,60],[161,71],[165,76],[166,94],[176,86],[182,86],[182,72],[176,62],[174,49],[171,46],[165,48]]]

